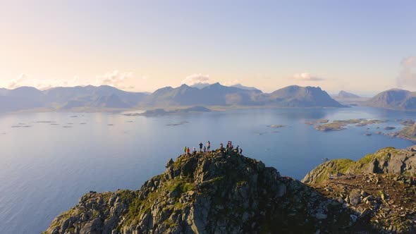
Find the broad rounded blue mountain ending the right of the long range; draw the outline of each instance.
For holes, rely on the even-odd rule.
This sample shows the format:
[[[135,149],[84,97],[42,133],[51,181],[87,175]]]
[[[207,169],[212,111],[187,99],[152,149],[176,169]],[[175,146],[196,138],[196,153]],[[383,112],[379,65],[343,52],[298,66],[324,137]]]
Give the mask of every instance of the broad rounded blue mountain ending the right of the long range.
[[[320,87],[292,85],[264,95],[266,104],[287,107],[344,107]]]

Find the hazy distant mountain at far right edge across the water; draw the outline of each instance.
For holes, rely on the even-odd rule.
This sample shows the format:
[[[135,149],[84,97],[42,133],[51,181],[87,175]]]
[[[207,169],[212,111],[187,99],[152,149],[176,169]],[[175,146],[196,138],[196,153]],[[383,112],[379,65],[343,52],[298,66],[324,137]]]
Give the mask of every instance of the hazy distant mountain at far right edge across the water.
[[[408,90],[387,90],[366,101],[367,106],[416,111],[416,93]]]

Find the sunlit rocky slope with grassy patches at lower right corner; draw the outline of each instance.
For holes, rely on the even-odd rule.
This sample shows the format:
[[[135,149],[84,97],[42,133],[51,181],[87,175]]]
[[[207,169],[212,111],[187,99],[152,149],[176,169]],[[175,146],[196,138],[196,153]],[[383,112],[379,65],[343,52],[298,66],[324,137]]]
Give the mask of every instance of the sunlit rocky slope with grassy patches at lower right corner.
[[[380,233],[416,233],[416,147],[317,166],[302,182],[355,211]]]

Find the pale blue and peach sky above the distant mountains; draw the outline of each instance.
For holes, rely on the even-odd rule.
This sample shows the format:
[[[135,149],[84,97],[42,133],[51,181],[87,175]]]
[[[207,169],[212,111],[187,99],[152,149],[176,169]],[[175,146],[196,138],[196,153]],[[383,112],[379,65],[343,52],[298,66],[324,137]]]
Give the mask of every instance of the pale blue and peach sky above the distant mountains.
[[[0,2],[0,87],[416,91],[416,1]]]

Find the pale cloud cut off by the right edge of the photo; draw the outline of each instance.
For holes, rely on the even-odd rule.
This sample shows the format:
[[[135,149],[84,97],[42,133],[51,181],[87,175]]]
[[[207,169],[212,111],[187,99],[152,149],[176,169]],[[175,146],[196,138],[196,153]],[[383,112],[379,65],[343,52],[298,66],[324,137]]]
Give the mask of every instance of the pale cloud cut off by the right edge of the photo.
[[[405,89],[416,88],[416,56],[403,58],[400,65],[402,69],[397,79],[398,87]]]

